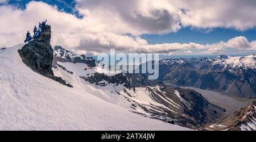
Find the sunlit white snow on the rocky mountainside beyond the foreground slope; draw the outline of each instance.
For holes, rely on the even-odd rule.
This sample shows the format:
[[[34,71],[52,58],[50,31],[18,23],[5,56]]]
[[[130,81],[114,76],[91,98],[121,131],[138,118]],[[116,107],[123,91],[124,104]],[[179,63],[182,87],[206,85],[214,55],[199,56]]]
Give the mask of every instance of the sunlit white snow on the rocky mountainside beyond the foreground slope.
[[[61,68],[54,69],[53,72],[55,76],[64,78],[65,81],[71,83],[74,88],[88,90],[91,89],[98,98],[104,101],[113,103],[115,105],[126,108],[131,112],[137,112],[142,116],[148,118],[158,118],[158,119],[168,119],[171,118],[160,118],[161,116],[155,116],[151,112],[159,112],[161,114],[166,114],[166,110],[177,113],[169,107],[164,106],[159,100],[156,100],[153,95],[157,95],[163,101],[167,102],[169,105],[180,109],[180,105],[172,101],[172,99],[165,96],[166,92],[160,90],[160,86],[147,86],[147,87],[136,87],[134,89],[129,89],[122,84],[114,84],[108,81],[101,81],[98,83],[105,83],[105,86],[100,86],[96,84],[91,84],[85,81],[81,76],[94,76],[94,73],[99,73],[98,69],[102,69],[100,66],[90,68],[88,65],[83,63],[73,64],[71,62],[57,62],[61,66],[65,66],[66,70],[73,72],[73,74],[68,73],[66,70]],[[118,72],[118,71],[117,71]],[[108,76],[113,76],[115,72],[108,73],[107,71],[101,72]],[[100,92],[100,93],[98,93]],[[154,94],[152,94],[154,93]],[[155,98],[155,99],[153,99]],[[143,108],[144,109],[143,109]],[[146,110],[147,111],[146,111]]]

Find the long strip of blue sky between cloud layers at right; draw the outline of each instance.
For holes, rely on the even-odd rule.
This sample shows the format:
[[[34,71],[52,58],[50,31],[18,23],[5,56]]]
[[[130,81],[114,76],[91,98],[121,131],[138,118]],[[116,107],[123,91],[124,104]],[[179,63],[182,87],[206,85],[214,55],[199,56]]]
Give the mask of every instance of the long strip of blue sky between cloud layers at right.
[[[186,27],[181,28],[181,30],[170,34],[142,35],[142,37],[147,39],[151,44],[174,42],[212,44],[218,41],[228,41],[235,36],[245,36],[249,41],[253,41],[256,39],[256,29],[253,28],[246,31],[237,31],[234,29],[213,28],[212,30],[207,31]]]

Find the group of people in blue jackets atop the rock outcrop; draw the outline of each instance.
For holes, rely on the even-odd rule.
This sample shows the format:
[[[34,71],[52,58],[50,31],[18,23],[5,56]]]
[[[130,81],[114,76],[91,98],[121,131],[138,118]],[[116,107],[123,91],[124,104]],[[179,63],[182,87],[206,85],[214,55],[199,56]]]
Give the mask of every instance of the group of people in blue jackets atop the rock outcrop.
[[[42,34],[44,31],[46,31],[46,22],[47,22],[47,19],[46,19],[46,21],[43,21],[42,23],[39,22],[38,28],[36,26],[34,27],[33,37],[31,36],[30,32],[27,31],[26,39],[25,39],[24,43],[26,43],[27,41],[30,41],[32,39],[38,38],[40,36],[40,34]]]

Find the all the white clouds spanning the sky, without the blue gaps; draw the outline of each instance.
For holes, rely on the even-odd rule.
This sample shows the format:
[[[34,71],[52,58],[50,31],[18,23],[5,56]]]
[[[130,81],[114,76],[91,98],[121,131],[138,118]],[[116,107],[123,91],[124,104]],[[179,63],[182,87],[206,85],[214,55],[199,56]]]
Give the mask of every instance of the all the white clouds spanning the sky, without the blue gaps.
[[[1,0],[0,0],[1,1]],[[225,48],[256,49],[256,41],[238,36],[214,44],[148,44],[142,34],[166,34],[180,28],[236,28],[246,30],[256,25],[254,1],[185,1],[185,0],[77,0],[77,10],[84,15],[58,11],[57,7],[32,1],[26,9],[0,6],[0,45],[11,46],[24,40],[27,29],[48,19],[52,26],[52,45],[62,45],[79,53],[97,54],[115,48],[139,53],[173,53],[203,49],[205,53]],[[249,10],[249,11],[248,11]],[[31,31],[30,30],[30,31]]]

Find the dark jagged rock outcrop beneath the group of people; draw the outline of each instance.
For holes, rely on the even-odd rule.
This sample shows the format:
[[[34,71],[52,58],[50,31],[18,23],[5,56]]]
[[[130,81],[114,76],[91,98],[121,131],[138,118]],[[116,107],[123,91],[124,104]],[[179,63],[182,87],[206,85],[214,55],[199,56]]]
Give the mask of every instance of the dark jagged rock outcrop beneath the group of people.
[[[46,25],[46,31],[39,38],[34,39],[20,49],[19,55],[22,61],[34,72],[42,74],[63,85],[71,87],[60,77],[55,77],[52,72],[53,49],[50,45],[51,26]]]

